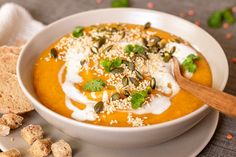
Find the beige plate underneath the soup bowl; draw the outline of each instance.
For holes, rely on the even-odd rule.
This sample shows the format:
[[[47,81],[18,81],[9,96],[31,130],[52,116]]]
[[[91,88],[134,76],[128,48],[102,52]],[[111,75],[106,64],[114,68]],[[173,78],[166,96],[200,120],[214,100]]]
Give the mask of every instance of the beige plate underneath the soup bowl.
[[[26,115],[25,123],[22,127],[29,124],[43,126],[47,137],[52,138],[54,141],[64,139],[72,146],[73,157],[196,157],[213,136],[217,127],[218,117],[219,113],[217,111],[211,112],[201,122],[181,136],[162,144],[138,149],[104,148],[76,140],[48,124],[36,112]],[[31,157],[27,152],[29,145],[19,134],[20,129],[17,129],[7,137],[0,137],[0,149],[6,151],[13,147],[18,148],[23,157]],[[14,139],[14,141],[11,139]]]

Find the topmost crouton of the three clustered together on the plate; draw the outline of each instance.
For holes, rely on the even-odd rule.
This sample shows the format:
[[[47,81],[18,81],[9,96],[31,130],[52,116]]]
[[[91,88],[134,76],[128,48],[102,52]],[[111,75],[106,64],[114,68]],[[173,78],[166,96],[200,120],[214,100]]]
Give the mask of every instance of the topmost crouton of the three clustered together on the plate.
[[[21,136],[31,145],[34,141],[43,138],[43,129],[40,125],[30,124],[21,130]]]

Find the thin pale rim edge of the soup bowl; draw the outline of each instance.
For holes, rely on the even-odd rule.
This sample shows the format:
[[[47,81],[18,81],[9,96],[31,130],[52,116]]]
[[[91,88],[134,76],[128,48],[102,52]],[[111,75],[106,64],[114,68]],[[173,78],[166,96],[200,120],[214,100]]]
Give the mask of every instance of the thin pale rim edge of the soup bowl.
[[[54,27],[54,25],[56,25],[57,23],[61,23],[63,21],[66,21],[74,16],[77,16],[78,14],[87,14],[87,13],[96,13],[96,12],[110,12],[110,11],[132,11],[132,12],[145,12],[145,13],[152,13],[152,14],[159,14],[159,15],[164,15],[164,16],[170,16],[170,17],[174,17],[177,20],[181,20],[185,23],[187,23],[188,25],[191,25],[193,27],[195,27],[195,29],[200,29],[201,31],[203,31],[205,33],[205,35],[207,35],[209,38],[211,38],[212,41],[214,41],[218,47],[220,48],[219,51],[222,52],[225,61],[226,61],[226,75],[224,76],[224,80],[222,81],[219,90],[223,90],[224,87],[226,86],[226,83],[228,81],[228,77],[229,77],[229,65],[228,65],[228,60],[226,58],[226,55],[222,49],[222,47],[220,46],[220,44],[216,41],[216,39],[214,39],[209,33],[207,33],[204,29],[196,26],[195,24],[182,19],[178,16],[169,14],[169,13],[165,13],[165,12],[161,12],[161,11],[156,11],[156,10],[148,10],[148,9],[140,9],[140,8],[105,8],[105,9],[95,9],[95,10],[89,10],[89,11],[85,11],[85,12],[79,12],[64,18],[61,18],[55,22],[50,23],[49,25],[47,25],[44,29],[42,29],[40,32],[38,32],[33,38],[31,38],[26,45],[23,47],[23,49],[21,50],[21,53],[18,57],[17,60],[17,67],[16,67],[16,71],[17,71],[17,80],[18,83],[23,91],[23,93],[26,95],[26,97],[31,101],[31,103],[33,104],[33,106],[36,106],[36,108],[39,108],[41,111],[46,112],[47,114],[49,114],[52,117],[55,117],[61,121],[64,121],[65,123],[68,123],[70,125],[75,125],[75,126],[81,126],[81,127],[87,127],[87,128],[91,128],[91,129],[96,129],[96,130],[102,130],[102,131],[121,131],[121,132],[133,132],[133,131],[142,131],[142,130],[150,130],[150,129],[156,129],[156,128],[163,128],[169,125],[173,125],[173,124],[177,124],[177,123],[181,123],[187,119],[191,119],[192,117],[194,117],[195,115],[201,113],[204,110],[209,109],[209,106],[204,104],[202,107],[196,109],[195,111],[184,115],[182,117],[179,117],[177,119],[173,119],[170,121],[166,121],[166,122],[162,122],[162,123],[158,123],[158,124],[152,124],[152,125],[148,125],[148,126],[143,126],[143,127],[111,127],[111,126],[102,126],[102,125],[95,125],[95,124],[90,124],[90,123],[85,123],[82,121],[76,121],[72,118],[68,118],[65,117],[49,108],[47,108],[46,106],[44,106],[40,101],[38,101],[37,99],[35,99],[33,96],[31,96],[30,92],[26,89],[26,87],[24,86],[24,83],[22,81],[21,78],[21,72],[20,72],[20,66],[21,66],[21,62],[22,62],[22,56],[23,54],[26,52],[25,50],[29,47],[29,45],[31,44],[31,42],[38,36],[40,36],[41,34],[44,33],[44,31],[50,27]]]

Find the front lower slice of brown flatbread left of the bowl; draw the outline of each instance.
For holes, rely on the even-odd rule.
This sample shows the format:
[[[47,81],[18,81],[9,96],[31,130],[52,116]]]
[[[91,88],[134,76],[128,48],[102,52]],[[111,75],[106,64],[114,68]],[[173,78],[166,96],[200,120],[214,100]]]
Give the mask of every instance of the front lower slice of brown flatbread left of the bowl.
[[[32,105],[27,101],[18,85],[16,75],[1,72],[0,113],[23,114],[32,110]]]

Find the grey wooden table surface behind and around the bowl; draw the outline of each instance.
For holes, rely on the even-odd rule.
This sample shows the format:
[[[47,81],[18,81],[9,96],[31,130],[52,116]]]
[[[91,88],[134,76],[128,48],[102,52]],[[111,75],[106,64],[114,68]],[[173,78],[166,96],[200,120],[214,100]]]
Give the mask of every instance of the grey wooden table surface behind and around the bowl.
[[[49,24],[62,17],[98,8],[108,8],[111,0],[102,0],[96,4],[96,0],[0,0],[0,5],[7,2],[15,2],[25,7],[32,16]],[[236,95],[236,63],[230,60],[236,57],[236,24],[229,29],[211,29],[207,27],[207,18],[216,9],[236,6],[236,0],[130,0],[130,6],[136,8],[147,8],[147,3],[155,4],[154,10],[179,15],[180,12],[187,12],[194,9],[195,16],[186,16],[185,19],[194,22],[201,21],[201,27],[209,32],[223,47],[229,60],[229,80],[225,92]],[[225,34],[231,32],[234,37],[226,40]],[[227,140],[227,133],[232,133],[234,138]],[[199,157],[236,157],[236,118],[220,114],[217,130],[205,147],[198,155]]]

